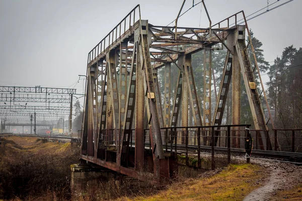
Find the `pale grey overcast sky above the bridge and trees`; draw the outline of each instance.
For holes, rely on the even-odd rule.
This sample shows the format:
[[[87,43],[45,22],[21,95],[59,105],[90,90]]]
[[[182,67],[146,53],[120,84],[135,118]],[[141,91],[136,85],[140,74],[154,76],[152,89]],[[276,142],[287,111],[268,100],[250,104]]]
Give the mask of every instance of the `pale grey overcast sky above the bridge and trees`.
[[[200,0],[195,0],[195,3]],[[278,4],[287,0],[280,0]],[[83,91],[78,74],[86,74],[88,52],[140,4],[142,19],[167,25],[178,14],[183,0],[80,1],[0,0],[0,85],[45,87],[75,86]],[[276,0],[270,0],[270,3]],[[246,16],[265,7],[267,0],[206,0],[213,23],[241,10]],[[184,10],[190,8],[187,0]],[[199,27],[201,4],[180,18],[178,26]],[[302,47],[301,0],[249,21],[255,37],[263,43],[267,61],[284,47]],[[208,27],[202,10],[201,27]]]

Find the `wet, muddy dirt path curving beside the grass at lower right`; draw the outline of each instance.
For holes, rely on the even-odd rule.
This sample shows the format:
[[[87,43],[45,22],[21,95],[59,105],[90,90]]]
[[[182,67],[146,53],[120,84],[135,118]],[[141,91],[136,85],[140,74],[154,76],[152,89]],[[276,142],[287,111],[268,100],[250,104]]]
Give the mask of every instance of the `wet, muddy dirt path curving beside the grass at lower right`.
[[[301,166],[262,159],[253,159],[253,162],[267,168],[269,176],[263,181],[264,185],[248,194],[244,201],[271,200],[279,190],[288,190],[302,182]]]

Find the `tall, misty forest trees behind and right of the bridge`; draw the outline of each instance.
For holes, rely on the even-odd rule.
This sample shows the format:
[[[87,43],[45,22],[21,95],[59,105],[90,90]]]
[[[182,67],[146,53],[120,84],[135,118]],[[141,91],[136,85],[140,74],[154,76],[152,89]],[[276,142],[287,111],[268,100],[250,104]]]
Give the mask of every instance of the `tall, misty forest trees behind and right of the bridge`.
[[[265,92],[268,99],[268,104],[272,114],[272,119],[275,128],[301,128],[302,124],[302,48],[295,48],[293,45],[284,47],[281,56],[277,56],[273,62],[268,62],[264,58],[262,42],[259,41],[251,31],[252,44],[255,49],[255,55],[259,66],[260,74],[267,74],[269,80],[262,80],[265,86]],[[249,39],[246,41],[250,44]],[[216,106],[216,96],[219,91],[220,80],[223,72],[223,66],[226,56],[226,49],[221,45],[214,47],[212,51],[212,91],[211,91],[211,114],[213,114]],[[248,53],[252,67],[255,66],[251,45],[248,47]],[[203,51],[192,55],[192,66],[194,71],[195,84],[197,88],[201,115],[203,115]],[[158,70],[159,83],[162,92],[162,106],[164,104],[164,68]],[[261,102],[268,121],[268,126],[271,127],[269,115],[265,104],[264,95],[260,85],[259,75],[257,70],[254,72],[258,93],[261,94]],[[178,68],[172,64],[171,68],[171,104],[173,103],[173,94],[176,88],[178,78]],[[241,123],[252,124],[253,118],[250,105],[244,85],[241,80]],[[232,84],[232,83],[231,83]],[[171,105],[172,106],[172,105]],[[172,108],[172,107],[171,107]],[[189,113],[191,111],[189,110]],[[193,125],[192,115],[189,115],[189,125]],[[180,119],[180,118],[179,118]],[[229,89],[228,100],[224,109],[222,124],[232,124],[232,86]]]

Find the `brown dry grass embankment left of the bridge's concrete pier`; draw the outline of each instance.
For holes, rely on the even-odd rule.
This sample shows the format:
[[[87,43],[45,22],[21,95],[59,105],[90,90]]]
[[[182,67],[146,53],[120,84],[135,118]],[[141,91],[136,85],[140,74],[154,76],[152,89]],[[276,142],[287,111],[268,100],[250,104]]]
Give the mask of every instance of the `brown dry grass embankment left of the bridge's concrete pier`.
[[[42,195],[69,199],[69,165],[78,162],[78,148],[70,143],[43,144],[37,138],[1,140],[0,199],[55,200]]]

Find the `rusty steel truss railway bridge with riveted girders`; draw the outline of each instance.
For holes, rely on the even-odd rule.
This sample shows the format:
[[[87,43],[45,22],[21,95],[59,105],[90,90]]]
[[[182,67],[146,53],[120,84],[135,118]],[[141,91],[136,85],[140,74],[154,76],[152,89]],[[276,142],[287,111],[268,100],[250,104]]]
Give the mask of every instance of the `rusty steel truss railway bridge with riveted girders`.
[[[209,28],[157,26],[140,18],[137,5],[89,52],[81,133],[83,162],[140,179],[141,172],[153,173],[154,179],[162,182],[173,176],[179,147],[187,160],[189,145],[195,146],[199,162],[202,146],[242,148],[247,136],[240,125],[241,87],[247,91],[255,127],[254,133],[247,135],[253,135],[259,150],[281,151],[277,137],[280,134],[268,134],[263,107],[272,118],[253,44],[246,44],[251,35],[244,12],[216,24],[211,23],[208,13],[207,16]],[[244,19],[243,25],[238,24],[239,19]],[[228,51],[212,114],[211,54],[217,44]],[[192,55],[199,51],[203,51],[202,103],[192,65]],[[165,71],[161,78],[158,69]],[[176,83],[171,80],[172,70],[178,72]],[[259,75],[260,86],[255,74]],[[164,83],[163,96],[160,81]],[[174,89],[172,84],[176,85]],[[222,126],[228,95],[233,101],[233,125]],[[188,127],[189,110],[193,127]],[[274,128],[272,121],[271,124]]]

